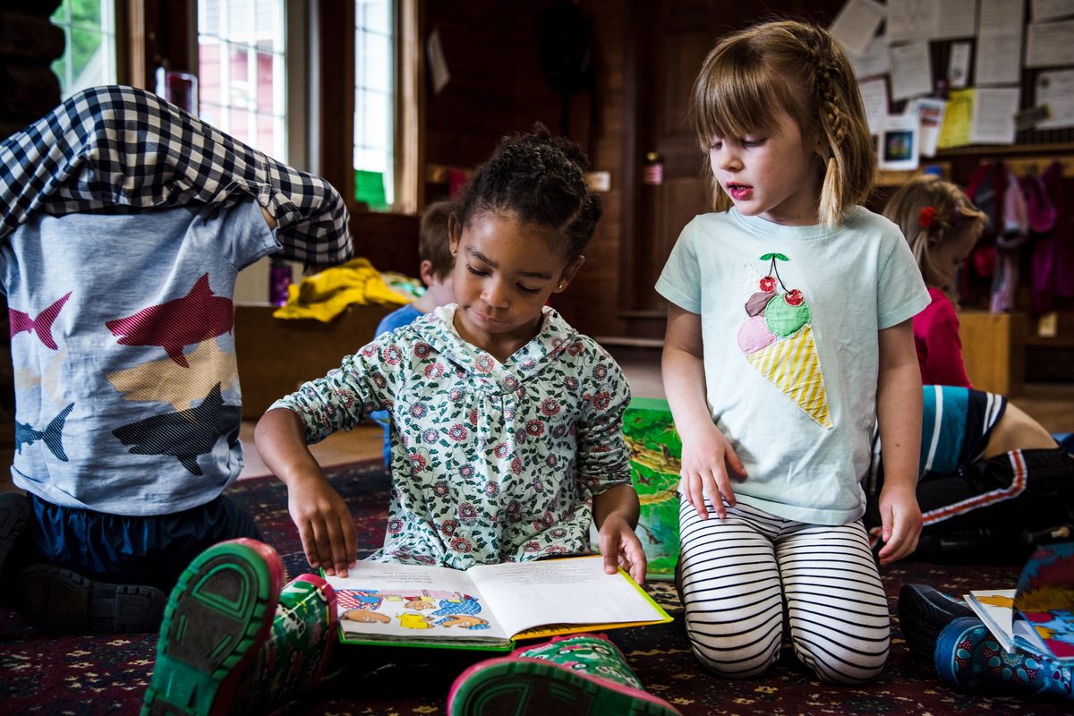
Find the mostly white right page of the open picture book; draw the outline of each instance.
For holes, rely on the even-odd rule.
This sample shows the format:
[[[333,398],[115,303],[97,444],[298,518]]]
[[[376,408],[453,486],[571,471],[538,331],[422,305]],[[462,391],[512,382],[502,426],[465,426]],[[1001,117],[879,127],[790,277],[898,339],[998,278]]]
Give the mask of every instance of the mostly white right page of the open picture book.
[[[509,634],[546,624],[663,622],[622,572],[604,573],[604,557],[485,565],[467,573]]]

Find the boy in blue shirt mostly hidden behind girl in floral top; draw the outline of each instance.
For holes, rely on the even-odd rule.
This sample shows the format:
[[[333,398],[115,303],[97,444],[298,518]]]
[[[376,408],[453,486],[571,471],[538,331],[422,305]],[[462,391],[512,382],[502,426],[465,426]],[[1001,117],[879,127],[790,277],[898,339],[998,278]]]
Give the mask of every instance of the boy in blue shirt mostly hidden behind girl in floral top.
[[[418,271],[426,287],[425,293],[417,301],[396,308],[386,316],[377,325],[377,336],[410,325],[416,318],[454,303],[451,275],[455,267],[455,258],[451,254],[451,245],[448,240],[448,219],[452,206],[449,201],[439,201],[425,207],[425,211],[421,215],[418,239],[418,255],[421,259]],[[377,410],[371,417],[384,428],[384,465],[390,467],[392,445],[388,436],[390,429],[388,411]]]

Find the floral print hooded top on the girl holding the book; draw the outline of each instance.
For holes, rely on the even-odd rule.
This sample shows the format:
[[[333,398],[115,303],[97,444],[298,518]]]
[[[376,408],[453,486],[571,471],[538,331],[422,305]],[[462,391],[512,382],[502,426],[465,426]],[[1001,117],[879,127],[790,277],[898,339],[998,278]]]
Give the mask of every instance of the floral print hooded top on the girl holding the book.
[[[270,409],[295,411],[310,443],[388,411],[393,496],[372,560],[467,569],[589,553],[593,496],[630,484],[619,365],[548,307],[502,364],[459,336],[454,310],[377,337]]]

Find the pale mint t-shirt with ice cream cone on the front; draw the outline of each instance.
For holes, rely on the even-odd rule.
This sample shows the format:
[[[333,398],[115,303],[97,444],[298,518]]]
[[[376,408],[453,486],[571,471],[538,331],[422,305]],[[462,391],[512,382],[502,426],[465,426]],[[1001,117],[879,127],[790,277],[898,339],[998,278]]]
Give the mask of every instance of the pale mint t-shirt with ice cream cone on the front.
[[[860,517],[877,332],[929,305],[898,227],[861,207],[840,228],[706,214],[656,290],[701,316],[709,407],[749,476],[731,473],[735,495],[810,524]]]

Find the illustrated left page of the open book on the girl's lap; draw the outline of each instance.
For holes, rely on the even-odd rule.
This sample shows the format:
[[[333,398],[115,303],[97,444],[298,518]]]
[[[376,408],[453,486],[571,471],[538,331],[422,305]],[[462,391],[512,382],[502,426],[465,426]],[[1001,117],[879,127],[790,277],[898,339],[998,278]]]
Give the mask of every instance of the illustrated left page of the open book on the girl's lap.
[[[446,567],[360,561],[346,578],[325,576],[336,590],[348,639],[420,642],[508,639],[467,572]]]

